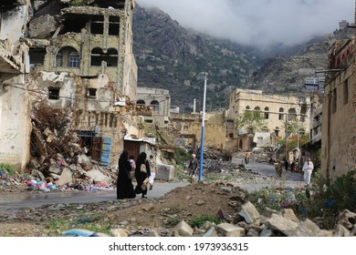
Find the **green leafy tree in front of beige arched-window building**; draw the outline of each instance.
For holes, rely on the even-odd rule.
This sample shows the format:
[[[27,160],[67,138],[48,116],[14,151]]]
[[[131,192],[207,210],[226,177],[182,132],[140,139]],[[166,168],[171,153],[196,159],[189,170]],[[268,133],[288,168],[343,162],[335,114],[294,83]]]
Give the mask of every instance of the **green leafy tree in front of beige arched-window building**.
[[[266,118],[261,111],[245,111],[237,117],[237,128],[250,128],[252,133],[260,131],[266,125]]]

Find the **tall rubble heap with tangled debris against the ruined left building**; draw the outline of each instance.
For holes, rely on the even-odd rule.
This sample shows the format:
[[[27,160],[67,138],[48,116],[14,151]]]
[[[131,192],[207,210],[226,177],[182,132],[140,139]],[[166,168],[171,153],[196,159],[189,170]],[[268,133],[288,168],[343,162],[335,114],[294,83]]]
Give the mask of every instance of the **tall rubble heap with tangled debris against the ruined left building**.
[[[31,119],[32,157],[24,174],[16,173],[10,178],[2,172],[3,189],[92,190],[115,184],[115,169],[101,168],[99,162],[86,156],[88,150],[80,145],[71,110],[55,109],[40,102],[33,107]]]

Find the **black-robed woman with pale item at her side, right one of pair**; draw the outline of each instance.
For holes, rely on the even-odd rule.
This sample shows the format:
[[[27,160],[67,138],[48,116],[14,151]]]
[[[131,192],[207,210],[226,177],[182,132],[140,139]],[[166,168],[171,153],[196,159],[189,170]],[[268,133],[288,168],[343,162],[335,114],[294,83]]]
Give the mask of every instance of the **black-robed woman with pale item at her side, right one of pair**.
[[[147,183],[151,176],[150,164],[147,160],[147,154],[141,152],[139,158],[136,161],[135,178],[137,181],[137,186],[135,188],[136,194],[142,194],[141,198],[146,199],[147,195]]]

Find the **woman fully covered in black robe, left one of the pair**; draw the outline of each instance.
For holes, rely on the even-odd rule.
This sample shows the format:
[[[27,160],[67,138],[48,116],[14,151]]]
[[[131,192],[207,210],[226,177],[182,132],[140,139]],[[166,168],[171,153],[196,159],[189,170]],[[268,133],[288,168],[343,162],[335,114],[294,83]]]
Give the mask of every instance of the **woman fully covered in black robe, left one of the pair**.
[[[116,199],[134,199],[136,197],[131,179],[131,164],[127,150],[119,158],[119,172],[116,181]]]

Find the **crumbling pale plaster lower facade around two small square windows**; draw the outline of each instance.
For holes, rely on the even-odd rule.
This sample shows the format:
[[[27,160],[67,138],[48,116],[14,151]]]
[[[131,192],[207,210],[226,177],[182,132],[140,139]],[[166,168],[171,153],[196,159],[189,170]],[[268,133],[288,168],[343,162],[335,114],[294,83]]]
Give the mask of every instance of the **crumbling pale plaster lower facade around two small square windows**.
[[[115,165],[123,148],[125,134],[138,135],[136,118],[125,107],[115,107],[115,93],[109,76],[83,78],[73,73],[40,72],[33,87],[47,95],[48,87],[58,87],[58,100],[48,100],[56,108],[74,108],[76,129],[96,131],[96,137],[111,138],[110,165]],[[97,89],[96,97],[88,97],[88,88]]]

